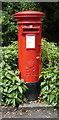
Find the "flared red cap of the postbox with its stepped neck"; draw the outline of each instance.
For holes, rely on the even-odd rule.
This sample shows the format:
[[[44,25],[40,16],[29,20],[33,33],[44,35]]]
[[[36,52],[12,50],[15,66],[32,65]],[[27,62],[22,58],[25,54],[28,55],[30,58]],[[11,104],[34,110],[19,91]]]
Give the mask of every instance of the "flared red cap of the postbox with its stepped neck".
[[[37,24],[42,18],[44,18],[45,13],[28,10],[15,13],[13,16],[18,20],[18,24]]]

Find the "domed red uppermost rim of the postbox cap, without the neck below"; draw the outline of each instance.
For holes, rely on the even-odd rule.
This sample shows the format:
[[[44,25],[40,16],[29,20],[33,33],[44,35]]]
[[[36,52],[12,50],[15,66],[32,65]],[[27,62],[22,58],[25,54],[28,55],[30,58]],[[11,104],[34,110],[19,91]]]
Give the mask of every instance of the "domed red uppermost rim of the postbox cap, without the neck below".
[[[20,18],[20,17],[41,17],[43,18],[45,16],[45,13],[28,10],[28,11],[22,11],[22,12],[15,13],[13,15],[15,18]]]

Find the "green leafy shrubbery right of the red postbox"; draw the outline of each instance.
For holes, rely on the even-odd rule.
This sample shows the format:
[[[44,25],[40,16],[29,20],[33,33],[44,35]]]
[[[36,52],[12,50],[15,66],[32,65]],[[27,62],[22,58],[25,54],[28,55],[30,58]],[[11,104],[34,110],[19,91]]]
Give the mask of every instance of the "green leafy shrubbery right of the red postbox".
[[[42,74],[41,94],[48,104],[59,105],[59,53],[54,43],[42,41]]]

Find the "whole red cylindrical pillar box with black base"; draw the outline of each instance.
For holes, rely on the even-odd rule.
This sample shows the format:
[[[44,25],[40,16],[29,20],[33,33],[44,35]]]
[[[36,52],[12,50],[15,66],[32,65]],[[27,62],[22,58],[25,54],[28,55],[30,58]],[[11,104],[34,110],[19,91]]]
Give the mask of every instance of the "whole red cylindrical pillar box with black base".
[[[38,11],[22,11],[13,14],[18,20],[18,69],[29,90],[26,96],[35,100],[39,94],[41,74],[42,22],[45,14]]]

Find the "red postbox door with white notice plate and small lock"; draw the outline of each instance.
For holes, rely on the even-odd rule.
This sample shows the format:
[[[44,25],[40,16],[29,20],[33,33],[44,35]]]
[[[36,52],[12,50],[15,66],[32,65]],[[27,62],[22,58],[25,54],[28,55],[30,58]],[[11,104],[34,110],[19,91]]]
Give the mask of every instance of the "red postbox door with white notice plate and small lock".
[[[37,34],[27,34],[26,43],[26,75],[37,79],[41,72],[41,46]],[[35,79],[34,79],[35,82]]]

